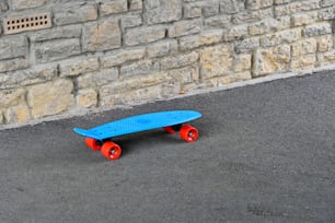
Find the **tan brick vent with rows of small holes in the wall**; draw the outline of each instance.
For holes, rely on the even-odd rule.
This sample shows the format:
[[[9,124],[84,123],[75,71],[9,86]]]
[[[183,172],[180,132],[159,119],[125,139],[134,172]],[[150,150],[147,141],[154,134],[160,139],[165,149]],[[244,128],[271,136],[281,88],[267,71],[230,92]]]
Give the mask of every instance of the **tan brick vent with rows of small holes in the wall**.
[[[49,13],[38,13],[27,16],[8,17],[3,20],[4,34],[42,30],[50,26],[51,19]]]

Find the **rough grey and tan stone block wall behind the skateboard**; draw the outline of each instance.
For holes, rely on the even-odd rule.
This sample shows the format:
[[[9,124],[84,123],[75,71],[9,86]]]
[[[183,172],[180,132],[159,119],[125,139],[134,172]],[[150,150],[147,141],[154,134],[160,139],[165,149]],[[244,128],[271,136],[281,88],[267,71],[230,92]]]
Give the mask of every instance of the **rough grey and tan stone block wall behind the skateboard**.
[[[0,0],[0,125],[335,62],[335,0]]]

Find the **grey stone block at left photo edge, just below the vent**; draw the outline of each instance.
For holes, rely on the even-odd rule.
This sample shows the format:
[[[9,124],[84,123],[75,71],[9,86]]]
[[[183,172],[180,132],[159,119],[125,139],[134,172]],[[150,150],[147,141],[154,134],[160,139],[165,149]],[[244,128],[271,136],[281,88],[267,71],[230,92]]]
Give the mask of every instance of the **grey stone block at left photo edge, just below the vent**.
[[[0,38],[0,60],[25,57],[28,42],[25,36],[5,36]]]

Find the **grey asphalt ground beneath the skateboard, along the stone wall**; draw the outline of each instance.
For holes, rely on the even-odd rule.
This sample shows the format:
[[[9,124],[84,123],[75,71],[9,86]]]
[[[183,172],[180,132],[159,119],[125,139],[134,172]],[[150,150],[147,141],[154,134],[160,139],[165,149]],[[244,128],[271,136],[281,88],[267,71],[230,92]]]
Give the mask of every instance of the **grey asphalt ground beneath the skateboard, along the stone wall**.
[[[195,143],[73,127],[197,109]],[[0,131],[0,222],[335,222],[335,71]]]

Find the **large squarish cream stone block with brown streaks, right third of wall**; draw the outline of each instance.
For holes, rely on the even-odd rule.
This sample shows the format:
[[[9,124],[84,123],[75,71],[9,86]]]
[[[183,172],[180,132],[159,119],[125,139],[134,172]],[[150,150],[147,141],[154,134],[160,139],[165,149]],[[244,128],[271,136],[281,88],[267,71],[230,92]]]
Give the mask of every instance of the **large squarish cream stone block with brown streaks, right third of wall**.
[[[253,56],[252,74],[256,78],[276,71],[286,71],[289,67],[290,59],[290,45],[259,48]]]

